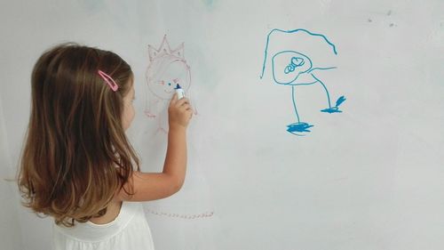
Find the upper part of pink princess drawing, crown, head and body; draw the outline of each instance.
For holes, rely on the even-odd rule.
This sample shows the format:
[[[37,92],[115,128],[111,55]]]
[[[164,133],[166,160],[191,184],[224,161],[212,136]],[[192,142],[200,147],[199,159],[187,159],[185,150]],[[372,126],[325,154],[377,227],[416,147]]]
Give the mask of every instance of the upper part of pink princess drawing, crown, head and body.
[[[177,85],[189,98],[191,85],[190,67],[184,56],[184,43],[171,49],[166,35],[158,49],[148,44],[149,65],[147,68],[147,105],[145,114],[158,122],[158,130],[168,133],[168,114],[166,107]],[[195,113],[195,112],[194,112]]]

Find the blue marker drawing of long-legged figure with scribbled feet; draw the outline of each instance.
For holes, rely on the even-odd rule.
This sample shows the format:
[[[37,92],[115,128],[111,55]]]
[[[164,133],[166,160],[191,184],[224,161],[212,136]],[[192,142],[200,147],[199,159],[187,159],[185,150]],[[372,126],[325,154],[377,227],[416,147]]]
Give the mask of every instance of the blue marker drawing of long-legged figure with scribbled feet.
[[[283,34],[298,34],[308,36],[310,40],[313,42],[321,41],[322,44],[327,45],[329,47],[329,52],[337,55],[337,50],[335,44],[329,42],[329,39],[326,36],[321,34],[314,34],[306,29],[299,28],[294,30],[281,30],[274,28],[268,33],[266,37],[266,49],[265,49],[265,57],[264,63],[262,65],[262,73],[260,78],[262,79],[266,70],[266,60],[267,53],[269,49],[271,36],[276,33]],[[306,39],[306,37],[305,37]],[[292,44],[293,45],[293,44]],[[298,44],[294,44],[297,47]],[[295,135],[304,135],[304,133],[309,133],[309,128],[313,125],[302,122],[299,114],[297,112],[297,102],[296,102],[296,86],[297,85],[314,85],[320,84],[325,91],[327,107],[326,109],[321,109],[321,112],[325,113],[339,113],[342,112],[339,109],[339,106],[345,101],[345,97],[341,96],[337,99],[335,105],[332,105],[329,96],[329,90],[327,86],[323,83],[320,77],[316,77],[317,71],[324,71],[329,69],[336,69],[336,67],[329,68],[315,68],[313,67],[313,61],[310,58],[309,54],[305,54],[302,51],[295,50],[281,50],[278,49],[277,52],[274,53],[271,58],[272,63],[272,74],[274,83],[278,85],[289,85],[291,86],[291,100],[293,102],[293,109],[296,113],[297,122],[287,125],[287,131],[289,133],[293,133]]]

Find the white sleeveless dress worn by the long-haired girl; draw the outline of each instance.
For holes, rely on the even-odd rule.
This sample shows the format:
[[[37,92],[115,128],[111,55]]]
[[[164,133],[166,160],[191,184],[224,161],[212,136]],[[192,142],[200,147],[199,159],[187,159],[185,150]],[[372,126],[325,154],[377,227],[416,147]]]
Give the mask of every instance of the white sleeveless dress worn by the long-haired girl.
[[[53,226],[53,250],[153,250],[151,230],[139,202],[123,202],[113,222],[76,222],[72,228]]]

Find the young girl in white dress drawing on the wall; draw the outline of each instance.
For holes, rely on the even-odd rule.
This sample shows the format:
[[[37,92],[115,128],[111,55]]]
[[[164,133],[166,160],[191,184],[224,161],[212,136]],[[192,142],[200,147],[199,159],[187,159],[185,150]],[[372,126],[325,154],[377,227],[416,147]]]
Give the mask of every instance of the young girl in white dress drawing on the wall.
[[[186,173],[186,98],[170,101],[163,173],[140,173],[125,136],[133,75],[114,52],[60,44],[37,60],[20,162],[24,205],[55,220],[53,249],[154,249],[139,201],[180,190]]]

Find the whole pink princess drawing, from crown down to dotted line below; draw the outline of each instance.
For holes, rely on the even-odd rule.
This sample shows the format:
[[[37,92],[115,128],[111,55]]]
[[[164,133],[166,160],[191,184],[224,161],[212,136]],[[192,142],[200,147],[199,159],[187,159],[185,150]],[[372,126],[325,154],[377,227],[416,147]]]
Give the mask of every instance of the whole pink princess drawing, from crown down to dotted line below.
[[[186,98],[191,100],[191,71],[185,59],[184,43],[171,48],[166,35],[163,36],[162,43],[158,47],[148,44],[148,55],[145,115],[157,123],[157,132],[167,134],[167,110],[176,86],[180,85],[185,91]],[[193,109],[194,115],[197,115],[195,107]],[[198,184],[199,181],[194,180],[194,186]],[[199,190],[193,191],[193,195],[196,195]],[[182,196],[182,198],[185,197]],[[178,202],[177,200],[151,202],[149,206],[144,207],[144,210],[146,214],[154,214],[166,219],[202,220],[213,217],[214,212],[211,209],[203,210],[199,206],[194,206],[194,203],[192,206],[188,206],[186,202]]]

